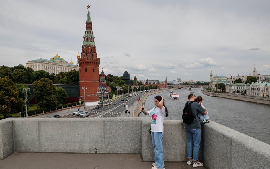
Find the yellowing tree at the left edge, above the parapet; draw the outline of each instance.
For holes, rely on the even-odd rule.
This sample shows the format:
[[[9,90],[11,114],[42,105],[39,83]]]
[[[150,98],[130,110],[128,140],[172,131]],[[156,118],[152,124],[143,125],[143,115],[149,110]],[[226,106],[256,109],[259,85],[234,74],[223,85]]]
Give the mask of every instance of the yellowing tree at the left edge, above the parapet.
[[[23,104],[14,82],[8,76],[0,78],[0,114],[6,118],[11,113],[22,111]]]

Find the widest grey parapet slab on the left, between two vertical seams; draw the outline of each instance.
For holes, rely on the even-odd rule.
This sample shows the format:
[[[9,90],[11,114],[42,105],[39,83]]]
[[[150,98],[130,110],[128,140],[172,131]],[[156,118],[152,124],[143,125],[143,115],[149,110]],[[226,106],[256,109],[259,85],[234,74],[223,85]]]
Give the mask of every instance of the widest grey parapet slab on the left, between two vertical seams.
[[[101,118],[40,118],[40,152],[104,153]]]

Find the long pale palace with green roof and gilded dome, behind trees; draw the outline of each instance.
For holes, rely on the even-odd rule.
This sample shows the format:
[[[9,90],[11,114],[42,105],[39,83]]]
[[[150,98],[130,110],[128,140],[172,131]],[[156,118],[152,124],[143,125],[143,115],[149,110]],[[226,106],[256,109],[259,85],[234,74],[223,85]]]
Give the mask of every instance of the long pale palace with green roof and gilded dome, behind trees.
[[[68,63],[63,58],[61,58],[58,55],[58,53],[56,53],[54,57],[50,58],[50,60],[42,59],[42,58],[39,58],[36,60],[30,60],[26,62],[25,67],[30,67],[34,71],[44,70],[50,74],[52,73],[58,74],[60,72],[69,72],[71,70],[79,71],[79,66],[74,65],[72,60],[70,63]]]

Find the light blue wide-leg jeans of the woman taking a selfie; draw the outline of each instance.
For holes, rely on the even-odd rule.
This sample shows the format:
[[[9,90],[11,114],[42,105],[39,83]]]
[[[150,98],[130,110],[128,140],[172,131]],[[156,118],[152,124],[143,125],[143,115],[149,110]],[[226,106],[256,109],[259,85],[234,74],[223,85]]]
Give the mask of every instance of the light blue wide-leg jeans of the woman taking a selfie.
[[[151,132],[152,143],[155,152],[155,163],[156,168],[164,168],[164,155],[163,155],[163,133],[162,132]]]

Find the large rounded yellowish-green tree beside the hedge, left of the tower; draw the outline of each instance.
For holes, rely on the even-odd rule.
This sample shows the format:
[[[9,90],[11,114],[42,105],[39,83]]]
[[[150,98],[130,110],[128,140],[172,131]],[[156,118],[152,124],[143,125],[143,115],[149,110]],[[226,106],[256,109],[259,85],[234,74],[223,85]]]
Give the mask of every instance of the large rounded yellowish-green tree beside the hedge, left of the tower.
[[[58,105],[55,88],[48,78],[41,78],[33,82],[34,98],[40,108],[50,108]]]

